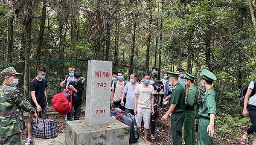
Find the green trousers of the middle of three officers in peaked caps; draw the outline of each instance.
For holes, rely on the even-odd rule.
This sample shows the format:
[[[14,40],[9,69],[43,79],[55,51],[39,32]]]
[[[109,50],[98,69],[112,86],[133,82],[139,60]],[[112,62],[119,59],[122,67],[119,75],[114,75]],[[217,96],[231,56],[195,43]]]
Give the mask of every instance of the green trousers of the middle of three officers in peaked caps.
[[[185,110],[184,140],[186,145],[195,145],[195,110]]]

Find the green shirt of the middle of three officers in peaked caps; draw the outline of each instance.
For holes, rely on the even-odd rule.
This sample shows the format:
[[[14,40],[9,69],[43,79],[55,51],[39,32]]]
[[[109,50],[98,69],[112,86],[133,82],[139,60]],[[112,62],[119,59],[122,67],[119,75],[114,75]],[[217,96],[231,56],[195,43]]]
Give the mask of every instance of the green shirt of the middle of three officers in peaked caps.
[[[198,102],[198,89],[195,85],[189,87],[188,95],[186,99],[186,109],[195,110],[195,105]]]

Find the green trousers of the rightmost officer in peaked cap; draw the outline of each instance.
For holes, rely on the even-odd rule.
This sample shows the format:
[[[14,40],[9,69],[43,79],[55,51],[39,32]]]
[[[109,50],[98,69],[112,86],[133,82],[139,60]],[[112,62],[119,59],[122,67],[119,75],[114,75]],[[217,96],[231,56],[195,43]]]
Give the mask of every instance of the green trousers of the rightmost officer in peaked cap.
[[[210,119],[199,119],[198,125],[198,145],[212,145],[212,137],[207,132],[207,127],[210,124]]]

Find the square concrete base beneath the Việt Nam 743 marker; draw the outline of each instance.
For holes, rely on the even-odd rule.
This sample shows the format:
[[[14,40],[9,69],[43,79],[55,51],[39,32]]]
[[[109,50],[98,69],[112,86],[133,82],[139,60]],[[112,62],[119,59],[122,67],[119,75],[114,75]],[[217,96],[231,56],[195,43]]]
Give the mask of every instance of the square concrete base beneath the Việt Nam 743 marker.
[[[111,128],[108,126],[111,125]],[[67,145],[129,145],[129,126],[109,118],[108,125],[88,126],[84,120],[66,122]]]

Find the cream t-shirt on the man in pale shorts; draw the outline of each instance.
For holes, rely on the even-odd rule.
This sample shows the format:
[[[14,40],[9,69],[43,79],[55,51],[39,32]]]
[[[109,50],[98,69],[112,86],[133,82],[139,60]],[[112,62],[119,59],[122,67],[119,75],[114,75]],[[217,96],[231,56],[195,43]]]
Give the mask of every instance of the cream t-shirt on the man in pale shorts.
[[[141,108],[151,108],[151,95],[154,95],[154,87],[148,85],[147,88],[142,84],[138,85],[135,90],[135,94],[139,94],[137,105]]]

